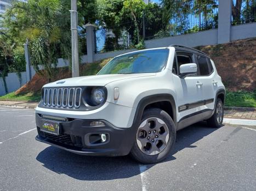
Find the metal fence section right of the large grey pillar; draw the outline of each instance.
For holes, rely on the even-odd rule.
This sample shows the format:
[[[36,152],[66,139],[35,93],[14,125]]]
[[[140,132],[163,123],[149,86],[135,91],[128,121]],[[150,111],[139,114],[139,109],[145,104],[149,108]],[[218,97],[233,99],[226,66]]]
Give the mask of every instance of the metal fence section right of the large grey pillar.
[[[233,0],[236,5],[236,1]],[[241,25],[244,23],[256,22],[256,0],[242,1],[241,11],[232,15],[232,25]]]

